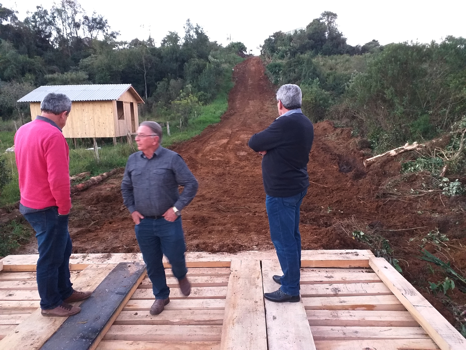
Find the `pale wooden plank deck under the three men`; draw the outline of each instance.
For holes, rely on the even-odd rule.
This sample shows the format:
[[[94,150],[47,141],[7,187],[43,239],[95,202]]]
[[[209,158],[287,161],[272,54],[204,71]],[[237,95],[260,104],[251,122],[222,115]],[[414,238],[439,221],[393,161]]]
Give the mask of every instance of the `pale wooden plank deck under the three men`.
[[[36,260],[37,255],[0,260],[2,350],[41,349],[65,321],[40,314]],[[96,349],[466,349],[465,339],[441,315],[427,317],[436,310],[369,251],[303,251],[302,301],[283,304],[262,296],[279,287],[272,280],[281,273],[273,251],[194,252],[186,254],[186,261],[191,295],[179,292],[165,263],[171,301],[160,315],[150,315],[152,286],[142,275],[108,330],[99,334]],[[74,287],[95,289],[119,262],[142,258],[135,253],[73,254]]]

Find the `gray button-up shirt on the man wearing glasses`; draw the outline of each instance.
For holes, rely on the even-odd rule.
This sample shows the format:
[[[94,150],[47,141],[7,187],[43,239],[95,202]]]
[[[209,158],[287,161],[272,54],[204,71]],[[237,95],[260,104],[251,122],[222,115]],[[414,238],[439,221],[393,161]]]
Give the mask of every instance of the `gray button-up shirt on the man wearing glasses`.
[[[178,185],[184,186],[181,195]],[[151,159],[139,151],[128,158],[121,193],[130,213],[160,216],[175,206],[182,210],[198,191],[198,182],[181,156],[159,146]]]

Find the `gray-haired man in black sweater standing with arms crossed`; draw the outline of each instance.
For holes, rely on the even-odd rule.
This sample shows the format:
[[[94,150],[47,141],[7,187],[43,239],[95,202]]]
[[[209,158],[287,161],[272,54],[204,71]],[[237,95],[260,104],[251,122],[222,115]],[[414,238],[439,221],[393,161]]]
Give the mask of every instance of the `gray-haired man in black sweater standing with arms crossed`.
[[[275,302],[298,302],[301,267],[299,208],[309,186],[308,161],[314,127],[302,114],[299,86],[286,84],[277,91],[279,117],[249,140],[262,158],[262,179],[270,238],[283,276],[273,279],[281,287],[264,297]]]

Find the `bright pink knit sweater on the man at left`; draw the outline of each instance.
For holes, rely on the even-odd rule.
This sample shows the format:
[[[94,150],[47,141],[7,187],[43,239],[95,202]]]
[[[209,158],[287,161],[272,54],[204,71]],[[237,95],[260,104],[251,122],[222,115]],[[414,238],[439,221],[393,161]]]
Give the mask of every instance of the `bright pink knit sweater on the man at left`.
[[[69,195],[69,148],[58,128],[43,120],[21,126],[14,135],[21,204],[44,209],[71,209]]]

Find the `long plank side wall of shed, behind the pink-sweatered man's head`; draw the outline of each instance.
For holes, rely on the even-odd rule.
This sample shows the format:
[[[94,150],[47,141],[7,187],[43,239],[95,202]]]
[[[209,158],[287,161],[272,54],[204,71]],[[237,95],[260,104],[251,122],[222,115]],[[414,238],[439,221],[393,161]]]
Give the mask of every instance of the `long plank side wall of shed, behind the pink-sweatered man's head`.
[[[30,109],[33,120],[37,115],[41,115],[39,102],[31,103]],[[74,101],[66,126],[63,128],[63,136],[71,138],[120,136],[115,135],[113,113],[112,101]]]

